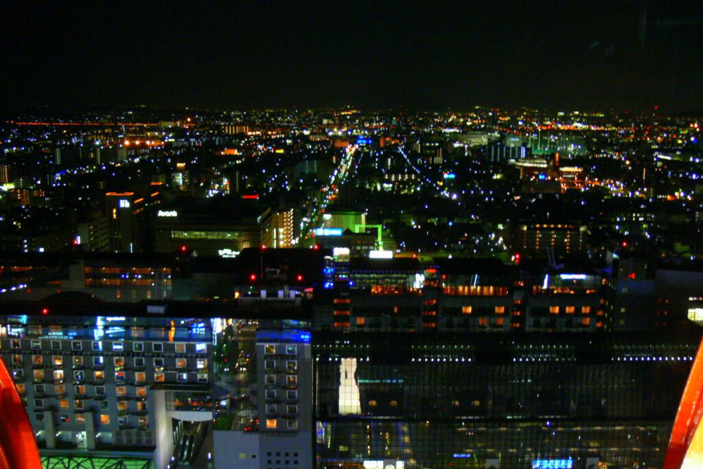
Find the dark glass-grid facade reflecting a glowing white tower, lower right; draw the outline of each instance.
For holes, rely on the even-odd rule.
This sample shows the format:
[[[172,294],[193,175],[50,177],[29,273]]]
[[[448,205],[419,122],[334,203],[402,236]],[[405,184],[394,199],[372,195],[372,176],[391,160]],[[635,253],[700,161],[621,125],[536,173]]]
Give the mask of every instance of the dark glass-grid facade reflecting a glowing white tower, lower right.
[[[317,465],[657,467],[696,347],[653,335],[316,336]]]

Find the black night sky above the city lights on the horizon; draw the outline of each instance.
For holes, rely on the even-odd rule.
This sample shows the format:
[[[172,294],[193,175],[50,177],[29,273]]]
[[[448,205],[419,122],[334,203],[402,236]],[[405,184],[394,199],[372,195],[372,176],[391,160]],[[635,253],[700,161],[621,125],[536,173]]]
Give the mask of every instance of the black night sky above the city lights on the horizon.
[[[205,3],[1,2],[0,108],[703,109],[703,1]]]

